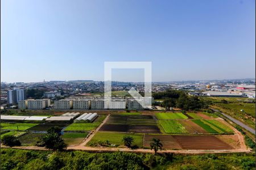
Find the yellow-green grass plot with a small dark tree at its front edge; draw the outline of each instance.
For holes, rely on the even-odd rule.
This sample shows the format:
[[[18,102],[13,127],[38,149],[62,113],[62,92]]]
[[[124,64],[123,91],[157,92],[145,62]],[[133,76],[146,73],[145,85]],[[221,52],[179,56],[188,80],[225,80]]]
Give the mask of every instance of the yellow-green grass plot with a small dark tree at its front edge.
[[[98,142],[98,141],[109,141],[113,145],[123,145],[123,136],[130,135],[134,138],[133,145],[138,145],[139,147],[143,147],[143,135],[142,134],[130,134],[130,133],[115,133],[115,132],[105,132],[98,131],[94,137],[90,140],[90,142]],[[89,143],[90,143],[89,142]]]

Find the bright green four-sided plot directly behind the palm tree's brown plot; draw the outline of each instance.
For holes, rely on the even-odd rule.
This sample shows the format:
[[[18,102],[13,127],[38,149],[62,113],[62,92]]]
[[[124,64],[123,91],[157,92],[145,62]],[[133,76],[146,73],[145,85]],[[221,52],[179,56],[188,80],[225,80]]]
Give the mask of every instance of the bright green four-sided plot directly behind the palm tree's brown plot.
[[[160,125],[166,133],[188,133],[188,131],[176,120],[159,120]]]

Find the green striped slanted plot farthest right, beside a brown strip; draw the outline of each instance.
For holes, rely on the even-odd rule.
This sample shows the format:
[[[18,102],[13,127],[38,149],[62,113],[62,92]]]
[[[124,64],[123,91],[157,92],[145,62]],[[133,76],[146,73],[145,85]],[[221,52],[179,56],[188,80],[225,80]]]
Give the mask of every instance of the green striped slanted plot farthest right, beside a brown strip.
[[[217,120],[192,120],[208,133],[232,133],[233,130]]]

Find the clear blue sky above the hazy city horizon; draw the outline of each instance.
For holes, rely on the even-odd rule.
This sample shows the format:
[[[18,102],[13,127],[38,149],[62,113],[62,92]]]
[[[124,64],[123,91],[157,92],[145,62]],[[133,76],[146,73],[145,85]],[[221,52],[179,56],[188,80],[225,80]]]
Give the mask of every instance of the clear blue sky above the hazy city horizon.
[[[255,1],[1,1],[1,81],[104,80],[105,61],[151,61],[153,81],[254,78]]]

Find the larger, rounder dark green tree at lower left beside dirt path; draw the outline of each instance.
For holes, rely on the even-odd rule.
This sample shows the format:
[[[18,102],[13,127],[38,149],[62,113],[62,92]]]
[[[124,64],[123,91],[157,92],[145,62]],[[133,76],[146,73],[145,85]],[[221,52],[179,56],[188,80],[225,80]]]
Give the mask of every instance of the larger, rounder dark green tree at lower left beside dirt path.
[[[64,148],[67,147],[67,144],[64,143],[63,138],[61,138],[59,134],[52,131],[43,137],[43,142],[46,148],[52,149],[53,151],[64,150]]]

